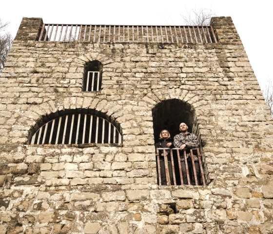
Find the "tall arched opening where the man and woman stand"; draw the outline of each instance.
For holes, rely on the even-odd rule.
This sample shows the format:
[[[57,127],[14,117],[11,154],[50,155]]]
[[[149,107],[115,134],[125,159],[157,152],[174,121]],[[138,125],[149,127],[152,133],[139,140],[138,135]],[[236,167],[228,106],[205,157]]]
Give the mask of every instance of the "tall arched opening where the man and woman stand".
[[[201,139],[194,107],[179,99],[165,100],[158,103],[152,109],[152,116],[157,149],[156,167],[158,185],[204,185],[203,163],[198,147],[201,146],[201,144],[198,144],[198,141],[201,143]],[[173,139],[176,134],[180,133],[180,123],[186,123],[188,132],[194,133],[197,136],[198,139],[194,136],[195,144],[192,144],[195,147],[182,150],[175,148]],[[174,149],[169,149],[166,145],[166,142],[170,141],[169,139],[159,139],[159,134],[163,129],[167,129],[170,132],[172,138],[172,146],[170,148]],[[189,138],[185,138],[186,136]],[[194,141],[194,137],[191,134],[186,134],[183,135],[181,141],[188,141],[185,139],[192,139]],[[192,142],[192,140],[189,141]]]

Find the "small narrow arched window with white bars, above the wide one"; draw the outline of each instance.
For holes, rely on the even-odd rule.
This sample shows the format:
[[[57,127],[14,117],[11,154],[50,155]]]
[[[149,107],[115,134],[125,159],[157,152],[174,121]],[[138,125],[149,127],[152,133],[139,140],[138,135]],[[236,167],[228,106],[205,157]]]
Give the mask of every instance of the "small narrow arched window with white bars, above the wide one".
[[[84,66],[82,91],[99,91],[102,83],[102,64],[98,61],[87,62]]]

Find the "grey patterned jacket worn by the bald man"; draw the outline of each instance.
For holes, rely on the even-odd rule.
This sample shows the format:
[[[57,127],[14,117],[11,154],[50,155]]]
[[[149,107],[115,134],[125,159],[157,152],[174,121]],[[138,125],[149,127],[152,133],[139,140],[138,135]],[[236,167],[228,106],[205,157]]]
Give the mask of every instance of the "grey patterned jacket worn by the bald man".
[[[185,149],[187,152],[187,158],[189,157],[189,150],[187,149],[199,148],[199,141],[197,136],[190,132],[188,132],[187,134],[183,134],[181,132],[174,137],[175,148],[180,148],[183,144],[186,145]],[[184,156],[181,157],[182,160],[184,160],[183,158]],[[194,160],[198,160],[196,155],[194,155]]]

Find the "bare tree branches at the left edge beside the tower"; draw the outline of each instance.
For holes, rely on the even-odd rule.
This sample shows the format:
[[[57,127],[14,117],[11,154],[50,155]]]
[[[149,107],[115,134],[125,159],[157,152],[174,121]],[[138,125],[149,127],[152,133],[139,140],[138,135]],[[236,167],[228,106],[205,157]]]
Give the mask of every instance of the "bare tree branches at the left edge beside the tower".
[[[8,52],[12,45],[12,36],[8,33],[1,33],[5,31],[6,27],[8,26],[8,22],[2,22],[0,19],[0,74],[4,69],[4,64],[6,62],[6,58]]]

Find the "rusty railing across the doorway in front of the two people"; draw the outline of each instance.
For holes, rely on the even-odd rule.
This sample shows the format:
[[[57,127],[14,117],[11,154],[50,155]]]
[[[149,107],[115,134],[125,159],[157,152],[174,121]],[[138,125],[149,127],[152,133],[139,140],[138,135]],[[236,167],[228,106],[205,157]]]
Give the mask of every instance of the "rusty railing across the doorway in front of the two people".
[[[160,172],[160,158],[164,158],[163,170],[165,170],[166,178],[163,178]],[[206,183],[201,159],[202,156],[198,148],[189,150],[180,150],[179,148],[157,148],[156,163],[158,184],[162,185],[161,182],[164,180],[167,182],[166,185],[205,185]],[[170,163],[172,171],[170,171],[168,167]],[[199,168],[196,168],[196,166]],[[198,169],[197,172],[196,169]],[[172,180],[170,179],[171,177]],[[186,180],[187,182],[185,182]]]

